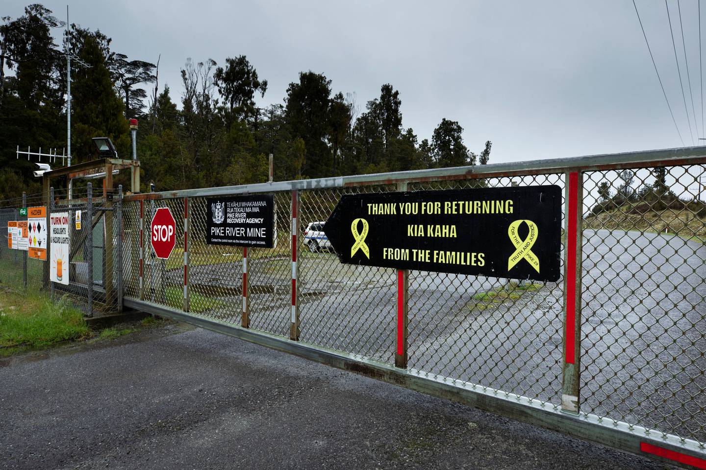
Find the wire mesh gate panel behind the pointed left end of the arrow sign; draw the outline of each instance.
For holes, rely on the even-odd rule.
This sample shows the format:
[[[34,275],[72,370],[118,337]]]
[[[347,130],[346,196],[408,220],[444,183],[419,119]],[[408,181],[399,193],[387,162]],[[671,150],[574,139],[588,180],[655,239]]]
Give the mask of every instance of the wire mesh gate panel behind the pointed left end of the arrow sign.
[[[301,340],[392,361],[395,351],[395,271],[341,264],[317,238],[342,194],[386,192],[391,186],[303,191],[299,202]]]

